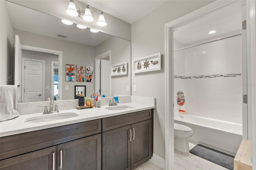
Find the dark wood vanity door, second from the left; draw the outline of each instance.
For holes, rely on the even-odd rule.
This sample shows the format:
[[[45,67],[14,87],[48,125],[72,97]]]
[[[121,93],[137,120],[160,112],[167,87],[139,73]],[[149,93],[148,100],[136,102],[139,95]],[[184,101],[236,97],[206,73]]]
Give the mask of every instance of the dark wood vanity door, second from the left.
[[[101,134],[58,145],[58,170],[101,170]]]

